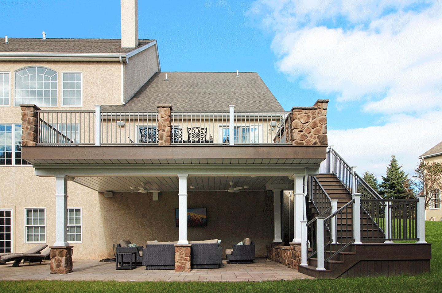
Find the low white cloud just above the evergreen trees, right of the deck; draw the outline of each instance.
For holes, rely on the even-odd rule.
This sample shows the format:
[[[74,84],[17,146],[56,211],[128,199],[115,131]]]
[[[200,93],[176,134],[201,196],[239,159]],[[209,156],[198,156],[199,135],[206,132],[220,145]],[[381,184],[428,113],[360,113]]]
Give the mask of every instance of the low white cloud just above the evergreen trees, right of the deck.
[[[328,131],[328,143],[362,175],[368,170],[385,176],[391,156],[396,155],[405,173],[414,174],[418,157],[442,140],[442,111],[420,118],[400,114],[383,126]]]

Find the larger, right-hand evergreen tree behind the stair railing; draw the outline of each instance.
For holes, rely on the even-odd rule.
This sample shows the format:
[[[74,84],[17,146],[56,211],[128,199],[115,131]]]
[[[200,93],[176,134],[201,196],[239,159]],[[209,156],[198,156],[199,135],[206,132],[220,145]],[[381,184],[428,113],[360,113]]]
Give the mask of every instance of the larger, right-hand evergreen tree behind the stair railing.
[[[413,189],[408,174],[399,166],[395,156],[391,156],[390,165],[387,166],[385,177],[379,185],[379,194],[387,199],[412,198]]]

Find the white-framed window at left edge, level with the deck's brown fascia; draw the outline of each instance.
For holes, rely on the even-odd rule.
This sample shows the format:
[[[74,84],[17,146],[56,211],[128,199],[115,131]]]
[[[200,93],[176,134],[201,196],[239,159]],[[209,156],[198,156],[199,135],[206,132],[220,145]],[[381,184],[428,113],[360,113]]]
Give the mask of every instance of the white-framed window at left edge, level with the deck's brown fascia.
[[[28,164],[22,159],[22,125],[0,124],[0,166]]]

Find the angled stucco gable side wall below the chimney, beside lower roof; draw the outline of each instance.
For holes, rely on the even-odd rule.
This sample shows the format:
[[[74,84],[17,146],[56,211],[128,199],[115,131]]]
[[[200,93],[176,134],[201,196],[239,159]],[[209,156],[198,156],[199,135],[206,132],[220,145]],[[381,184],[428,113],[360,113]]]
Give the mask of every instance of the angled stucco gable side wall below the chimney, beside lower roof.
[[[126,103],[157,71],[158,55],[156,45],[133,55],[124,66],[124,102]]]

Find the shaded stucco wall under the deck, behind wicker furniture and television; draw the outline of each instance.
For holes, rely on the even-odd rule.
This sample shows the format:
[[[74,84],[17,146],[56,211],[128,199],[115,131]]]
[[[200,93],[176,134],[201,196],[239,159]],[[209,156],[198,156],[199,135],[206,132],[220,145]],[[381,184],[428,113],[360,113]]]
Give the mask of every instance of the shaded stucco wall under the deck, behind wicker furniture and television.
[[[255,242],[257,256],[266,255],[266,244],[273,240],[273,197],[266,192],[189,192],[189,208],[207,208],[207,227],[187,227],[187,239],[222,239],[225,249],[249,237]],[[152,193],[114,193],[114,197],[99,195],[103,216],[107,256],[113,257],[112,244],[129,239],[137,245],[146,241],[177,241],[175,208],[178,193],[163,192],[158,201]],[[102,255],[100,255],[100,258]]]

